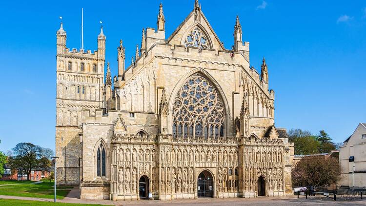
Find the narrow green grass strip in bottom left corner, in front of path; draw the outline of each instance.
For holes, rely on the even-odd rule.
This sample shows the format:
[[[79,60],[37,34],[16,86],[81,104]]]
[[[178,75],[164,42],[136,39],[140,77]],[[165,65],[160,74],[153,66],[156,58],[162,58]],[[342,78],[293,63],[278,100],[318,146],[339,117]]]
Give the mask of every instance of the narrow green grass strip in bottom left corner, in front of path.
[[[29,201],[29,200],[8,200],[0,199],[1,206],[101,206],[90,204],[71,204],[71,203],[53,203],[53,202],[41,202],[41,201]]]

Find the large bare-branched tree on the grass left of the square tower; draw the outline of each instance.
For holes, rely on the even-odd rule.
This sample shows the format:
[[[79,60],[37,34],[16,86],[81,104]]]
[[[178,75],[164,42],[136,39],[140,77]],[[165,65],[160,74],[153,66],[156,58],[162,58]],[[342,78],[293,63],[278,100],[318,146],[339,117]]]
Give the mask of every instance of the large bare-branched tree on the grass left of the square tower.
[[[32,169],[45,169],[50,165],[49,159],[42,157],[42,148],[32,143],[19,143],[13,149],[14,157],[9,158],[13,170],[23,169],[30,180]]]

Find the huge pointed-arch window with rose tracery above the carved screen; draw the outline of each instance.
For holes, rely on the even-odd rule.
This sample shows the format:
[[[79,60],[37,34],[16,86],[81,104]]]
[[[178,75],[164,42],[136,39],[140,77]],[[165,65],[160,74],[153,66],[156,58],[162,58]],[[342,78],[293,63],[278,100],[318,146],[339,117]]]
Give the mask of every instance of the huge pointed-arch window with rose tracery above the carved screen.
[[[200,74],[183,83],[173,103],[173,136],[187,135],[224,137],[224,103],[213,84]]]

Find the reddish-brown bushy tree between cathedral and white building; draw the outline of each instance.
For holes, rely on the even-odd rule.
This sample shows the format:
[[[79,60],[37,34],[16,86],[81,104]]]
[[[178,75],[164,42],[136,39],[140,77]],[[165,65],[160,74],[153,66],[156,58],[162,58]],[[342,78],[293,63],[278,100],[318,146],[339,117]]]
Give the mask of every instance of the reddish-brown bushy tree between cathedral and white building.
[[[325,186],[335,184],[340,179],[339,162],[334,157],[310,156],[304,157],[292,169],[294,184]]]

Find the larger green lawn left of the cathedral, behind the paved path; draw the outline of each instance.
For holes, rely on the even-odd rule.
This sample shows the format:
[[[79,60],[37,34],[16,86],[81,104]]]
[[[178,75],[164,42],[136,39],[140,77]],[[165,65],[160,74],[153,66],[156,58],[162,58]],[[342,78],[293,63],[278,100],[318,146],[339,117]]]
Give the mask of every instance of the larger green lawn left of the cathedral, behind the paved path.
[[[0,185],[0,195],[53,199],[53,184],[53,182],[42,182],[39,184]],[[56,198],[63,199],[70,192],[71,188],[72,187],[57,187]]]

